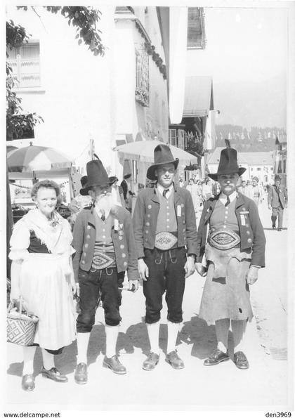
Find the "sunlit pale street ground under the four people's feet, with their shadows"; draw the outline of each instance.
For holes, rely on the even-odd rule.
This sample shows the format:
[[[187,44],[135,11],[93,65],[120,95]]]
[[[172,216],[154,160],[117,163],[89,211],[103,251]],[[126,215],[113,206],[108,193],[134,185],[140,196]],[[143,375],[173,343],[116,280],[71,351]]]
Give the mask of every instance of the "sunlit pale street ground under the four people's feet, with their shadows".
[[[20,406],[33,410],[53,407],[58,410],[265,410],[293,409],[291,393],[293,370],[287,361],[287,229],[270,229],[270,211],[265,202],[260,208],[267,239],[266,268],[259,270],[258,282],[251,287],[254,319],[247,327],[249,370],[239,370],[232,360],[204,367],[204,359],[216,347],[215,328],[198,318],[204,278],[195,273],[188,278],[183,299],[183,325],[178,337],[178,353],[185,362],[183,370],[173,370],[164,361],[166,351],[166,307],[160,327],[160,361],[146,372],[143,360],[149,349],[143,322],[143,289],[123,290],[122,325],[117,348],[126,366],[126,375],[116,375],[102,367],[105,355],[103,309],[98,308],[96,325],[89,344],[89,382],[74,383],[77,346],[73,343],[57,356],[55,363],[67,374],[67,384],[44,379],[41,353],[34,360],[36,388],[22,391],[22,349],[8,344],[7,409]],[[287,212],[287,211],[285,211]],[[287,223],[285,213],[284,225]],[[165,303],[164,303],[165,305]],[[231,334],[231,333],[230,333]],[[232,355],[232,336],[230,335]]]

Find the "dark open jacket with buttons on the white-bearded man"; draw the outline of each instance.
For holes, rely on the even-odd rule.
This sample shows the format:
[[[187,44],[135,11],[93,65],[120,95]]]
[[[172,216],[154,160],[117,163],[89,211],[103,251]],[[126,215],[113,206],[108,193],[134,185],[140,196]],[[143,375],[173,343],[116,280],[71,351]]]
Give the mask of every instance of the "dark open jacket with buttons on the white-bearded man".
[[[96,243],[96,220],[94,207],[82,209],[74,224],[72,247],[76,250],[73,258],[74,278],[78,281],[79,268],[84,271],[91,269]],[[118,273],[128,270],[129,280],[138,280],[136,247],[129,211],[115,206],[112,210],[112,242],[114,244],[114,258]],[[117,229],[114,220],[117,219]]]

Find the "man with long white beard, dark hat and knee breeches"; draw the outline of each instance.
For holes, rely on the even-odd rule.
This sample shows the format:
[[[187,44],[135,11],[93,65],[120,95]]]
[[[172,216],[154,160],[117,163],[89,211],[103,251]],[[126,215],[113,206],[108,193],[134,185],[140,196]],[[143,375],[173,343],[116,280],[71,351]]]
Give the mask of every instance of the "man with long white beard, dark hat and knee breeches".
[[[130,289],[138,289],[136,247],[129,211],[114,204],[110,179],[100,159],[86,165],[88,181],[81,195],[90,195],[93,207],[82,209],[74,225],[74,277],[81,313],[77,318],[77,368],[74,380],[87,382],[87,348],[99,296],[105,311],[106,351],[103,366],[116,374],[126,368],[116,353],[121,316],[122,281],[128,270]]]

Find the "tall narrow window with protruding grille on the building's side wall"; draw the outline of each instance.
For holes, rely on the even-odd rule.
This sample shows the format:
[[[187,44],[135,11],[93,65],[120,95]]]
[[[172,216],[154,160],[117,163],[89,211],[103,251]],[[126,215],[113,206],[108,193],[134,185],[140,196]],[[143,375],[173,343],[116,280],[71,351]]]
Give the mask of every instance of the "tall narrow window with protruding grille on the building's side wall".
[[[136,101],[148,107],[150,105],[149,89],[149,56],[143,48],[140,53],[136,51]]]

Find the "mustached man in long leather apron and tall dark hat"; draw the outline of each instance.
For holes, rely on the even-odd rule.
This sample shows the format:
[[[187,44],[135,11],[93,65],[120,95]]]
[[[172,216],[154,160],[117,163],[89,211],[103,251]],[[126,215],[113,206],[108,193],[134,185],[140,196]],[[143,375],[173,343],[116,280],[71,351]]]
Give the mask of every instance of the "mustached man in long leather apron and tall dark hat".
[[[204,365],[218,365],[229,360],[228,332],[234,340],[234,363],[249,368],[244,354],[244,333],[253,313],[249,285],[258,278],[258,269],[265,266],[265,236],[256,203],[237,192],[237,182],[246,169],[237,164],[237,151],[221,151],[216,174],[221,193],[204,205],[197,233],[197,272],[206,275],[199,318],[215,325],[217,348]],[[206,267],[204,267],[205,256]],[[203,263],[202,263],[203,261]]]

